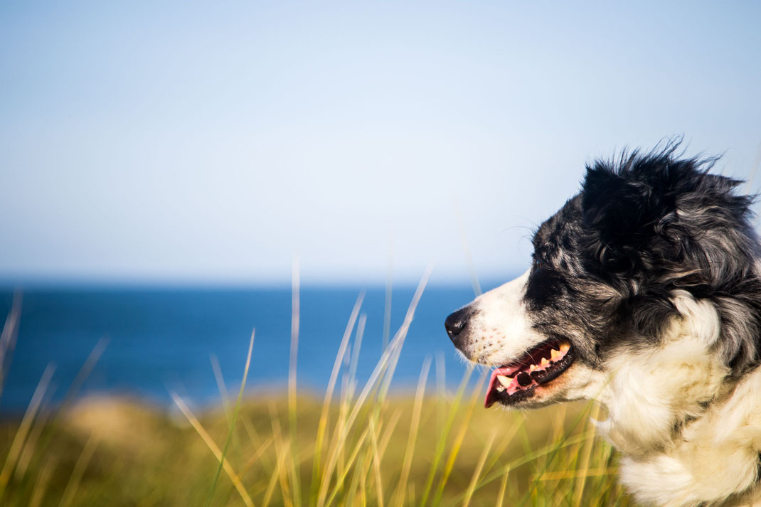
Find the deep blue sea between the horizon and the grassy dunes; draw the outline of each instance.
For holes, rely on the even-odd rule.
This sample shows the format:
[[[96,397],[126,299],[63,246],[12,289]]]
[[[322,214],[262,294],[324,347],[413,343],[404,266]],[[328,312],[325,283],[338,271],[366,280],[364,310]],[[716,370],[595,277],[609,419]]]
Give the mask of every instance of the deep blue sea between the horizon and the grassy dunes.
[[[393,287],[391,336],[403,323],[415,289],[414,285]],[[361,292],[365,294],[361,313],[367,324],[358,356],[360,382],[368,378],[384,347],[385,287],[301,287],[300,391],[324,391]],[[11,289],[0,292],[4,317],[13,298]],[[472,299],[470,285],[425,289],[393,387],[414,386],[426,358],[443,359],[447,382],[462,377],[465,366],[444,332],[444,318]],[[254,329],[247,388],[285,388],[291,344],[290,287],[27,289],[21,292],[18,340],[2,385],[0,413],[23,411],[48,365],[55,370],[46,402],[59,403],[101,340],[105,349],[78,395],[122,394],[168,405],[170,391],[176,391],[194,403],[215,403],[219,388],[212,360],[218,361],[227,388],[237,392]]]

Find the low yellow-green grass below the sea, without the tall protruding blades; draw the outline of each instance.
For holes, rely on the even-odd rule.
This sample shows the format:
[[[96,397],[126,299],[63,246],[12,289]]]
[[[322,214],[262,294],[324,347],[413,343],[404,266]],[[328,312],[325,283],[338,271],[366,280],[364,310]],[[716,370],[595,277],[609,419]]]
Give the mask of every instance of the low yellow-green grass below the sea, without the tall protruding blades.
[[[422,505],[426,489],[427,505],[628,505],[611,450],[592,439],[583,405],[507,413],[484,410],[480,395],[454,405],[452,397],[426,396],[415,410],[415,399],[389,397],[362,409],[361,425],[340,448],[345,410],[330,407],[318,472],[330,452],[337,458],[331,477],[320,477],[323,505]],[[300,397],[292,434],[285,396],[245,400],[226,461],[247,499],[223,470],[211,505],[318,505],[310,483],[321,407]],[[228,420],[212,410],[198,424],[222,448]],[[2,426],[3,456],[17,430],[18,423]],[[59,413],[26,450],[28,463],[11,474],[2,505],[205,505],[219,464],[180,414],[120,399]],[[296,482],[301,498],[293,496]]]

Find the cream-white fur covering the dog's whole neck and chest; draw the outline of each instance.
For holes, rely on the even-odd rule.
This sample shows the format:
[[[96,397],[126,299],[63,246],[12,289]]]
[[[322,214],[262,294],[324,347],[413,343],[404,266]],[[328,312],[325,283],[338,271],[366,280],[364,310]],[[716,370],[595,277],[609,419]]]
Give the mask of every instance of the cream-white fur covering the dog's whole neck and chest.
[[[611,357],[600,432],[622,452],[622,482],[654,505],[749,505],[761,450],[761,369],[740,381],[712,353],[709,301],[675,298],[682,317],[658,347]]]

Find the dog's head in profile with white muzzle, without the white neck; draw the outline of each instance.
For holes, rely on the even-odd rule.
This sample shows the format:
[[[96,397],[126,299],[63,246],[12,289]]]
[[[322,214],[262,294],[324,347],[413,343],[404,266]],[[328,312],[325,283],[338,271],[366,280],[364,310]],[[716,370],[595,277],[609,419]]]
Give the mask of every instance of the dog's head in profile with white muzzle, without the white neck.
[[[590,397],[611,355],[658,346],[683,320],[677,294],[712,305],[721,333],[706,349],[728,371],[755,364],[752,199],[677,145],[587,166],[581,192],[534,234],[530,269],[447,317],[463,356],[495,368],[487,407]]]

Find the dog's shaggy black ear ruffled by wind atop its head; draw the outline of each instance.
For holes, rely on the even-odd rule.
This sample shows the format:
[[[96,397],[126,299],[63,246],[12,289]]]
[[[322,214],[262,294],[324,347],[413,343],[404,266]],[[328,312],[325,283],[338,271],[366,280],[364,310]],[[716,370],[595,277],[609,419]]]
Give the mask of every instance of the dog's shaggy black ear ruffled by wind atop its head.
[[[663,151],[587,167],[581,209],[597,260],[615,273],[647,272],[662,285],[718,286],[753,265],[749,196],[708,174],[715,158]]]

